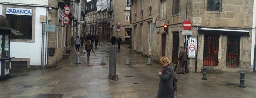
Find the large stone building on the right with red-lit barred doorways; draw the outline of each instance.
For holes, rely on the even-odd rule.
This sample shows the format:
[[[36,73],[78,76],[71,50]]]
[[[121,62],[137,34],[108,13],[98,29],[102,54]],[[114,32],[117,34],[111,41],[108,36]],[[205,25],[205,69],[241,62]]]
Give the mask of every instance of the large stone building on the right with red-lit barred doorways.
[[[133,49],[177,63],[179,46],[185,46],[186,72],[201,72],[203,67],[212,72],[252,71],[253,4],[253,0],[133,0]],[[185,20],[192,24],[187,32]],[[167,32],[163,24],[168,25]]]

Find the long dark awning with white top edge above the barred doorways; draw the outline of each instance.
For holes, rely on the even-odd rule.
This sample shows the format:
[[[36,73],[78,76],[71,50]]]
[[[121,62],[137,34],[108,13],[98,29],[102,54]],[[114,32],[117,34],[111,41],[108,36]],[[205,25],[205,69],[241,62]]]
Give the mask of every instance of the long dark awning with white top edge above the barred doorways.
[[[232,30],[232,29],[212,29],[197,27],[199,34],[220,34],[220,35],[240,35],[250,36],[249,30]]]

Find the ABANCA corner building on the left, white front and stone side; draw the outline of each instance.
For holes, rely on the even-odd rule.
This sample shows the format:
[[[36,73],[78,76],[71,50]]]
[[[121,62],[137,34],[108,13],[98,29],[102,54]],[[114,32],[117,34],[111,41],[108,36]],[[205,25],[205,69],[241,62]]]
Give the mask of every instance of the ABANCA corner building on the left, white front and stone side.
[[[70,51],[74,38],[84,32],[85,3],[86,0],[1,0],[0,15],[22,34],[10,35],[10,56],[15,57],[11,59],[12,69],[56,67]]]

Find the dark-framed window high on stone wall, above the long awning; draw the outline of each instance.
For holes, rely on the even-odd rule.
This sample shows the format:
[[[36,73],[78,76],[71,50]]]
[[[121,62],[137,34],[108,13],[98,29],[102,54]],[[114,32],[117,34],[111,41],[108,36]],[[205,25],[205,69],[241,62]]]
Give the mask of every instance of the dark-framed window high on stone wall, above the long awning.
[[[207,0],[207,11],[222,11],[222,0]]]

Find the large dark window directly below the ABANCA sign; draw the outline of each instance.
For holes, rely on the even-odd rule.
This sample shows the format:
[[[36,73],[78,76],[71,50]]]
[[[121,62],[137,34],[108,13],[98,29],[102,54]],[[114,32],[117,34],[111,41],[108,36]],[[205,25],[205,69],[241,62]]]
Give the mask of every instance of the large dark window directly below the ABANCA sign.
[[[24,35],[11,34],[11,39],[32,39],[32,16],[6,14],[7,20],[13,29],[17,29]]]

